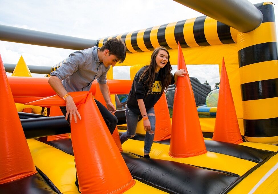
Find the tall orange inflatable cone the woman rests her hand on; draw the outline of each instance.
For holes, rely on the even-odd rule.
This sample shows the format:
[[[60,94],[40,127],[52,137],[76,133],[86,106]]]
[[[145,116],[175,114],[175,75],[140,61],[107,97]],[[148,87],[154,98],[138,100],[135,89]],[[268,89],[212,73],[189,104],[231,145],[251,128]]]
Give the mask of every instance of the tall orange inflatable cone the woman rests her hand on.
[[[178,43],[178,69],[186,69]],[[188,75],[178,77],[174,96],[172,133],[169,155],[185,158],[206,153],[196,103]]]

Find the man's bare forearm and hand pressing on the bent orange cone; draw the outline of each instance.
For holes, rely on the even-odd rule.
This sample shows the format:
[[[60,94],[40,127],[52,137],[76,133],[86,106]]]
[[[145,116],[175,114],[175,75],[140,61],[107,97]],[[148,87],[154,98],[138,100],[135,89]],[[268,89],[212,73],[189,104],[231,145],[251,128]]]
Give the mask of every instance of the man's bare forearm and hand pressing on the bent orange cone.
[[[48,80],[49,85],[53,88],[53,90],[63,98],[68,92],[64,88],[62,81],[56,77],[56,76],[50,76]],[[77,111],[76,105],[73,101],[73,98],[71,96],[66,97],[66,119],[68,119],[68,115],[70,115],[70,122],[72,121],[72,115],[74,116],[74,121],[77,123],[76,115],[78,116],[79,120],[81,120],[81,116],[79,112]]]

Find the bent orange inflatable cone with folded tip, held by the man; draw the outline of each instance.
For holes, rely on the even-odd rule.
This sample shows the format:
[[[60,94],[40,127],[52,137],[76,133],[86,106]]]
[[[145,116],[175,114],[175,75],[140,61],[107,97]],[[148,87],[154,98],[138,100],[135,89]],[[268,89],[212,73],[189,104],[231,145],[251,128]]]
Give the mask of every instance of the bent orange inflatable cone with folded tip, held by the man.
[[[75,100],[78,93],[82,101]],[[82,193],[123,193],[131,188],[133,180],[117,145],[101,116],[91,92],[71,92],[81,120],[71,123],[72,147],[76,163],[79,189]],[[64,106],[62,98],[53,96],[37,100],[32,105],[45,106],[56,99],[55,104]],[[53,101],[52,101],[53,102]],[[29,104],[29,103],[28,103]],[[96,132],[97,131],[97,132]],[[121,175],[115,181],[115,177]]]

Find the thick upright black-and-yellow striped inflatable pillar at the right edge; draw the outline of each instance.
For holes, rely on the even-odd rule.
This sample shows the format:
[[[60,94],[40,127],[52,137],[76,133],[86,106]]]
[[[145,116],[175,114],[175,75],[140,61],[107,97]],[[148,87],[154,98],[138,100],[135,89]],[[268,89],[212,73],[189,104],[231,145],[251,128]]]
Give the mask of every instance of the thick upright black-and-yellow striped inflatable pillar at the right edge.
[[[278,144],[278,55],[273,4],[255,4],[261,25],[237,36],[245,140]]]

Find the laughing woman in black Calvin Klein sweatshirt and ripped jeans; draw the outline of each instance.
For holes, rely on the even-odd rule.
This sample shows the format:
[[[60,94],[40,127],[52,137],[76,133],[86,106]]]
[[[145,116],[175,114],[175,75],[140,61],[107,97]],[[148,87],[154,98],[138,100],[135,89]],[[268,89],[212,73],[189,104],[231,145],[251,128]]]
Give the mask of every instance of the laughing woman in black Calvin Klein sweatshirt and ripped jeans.
[[[178,77],[188,73],[180,69],[173,74],[169,52],[164,47],[156,48],[151,55],[151,63],[142,67],[135,75],[127,98],[125,112],[127,131],[120,137],[121,144],[134,137],[137,123],[143,118],[145,135],[144,157],[150,158],[149,153],[155,134],[155,111],[153,106],[167,86],[174,84]]]

